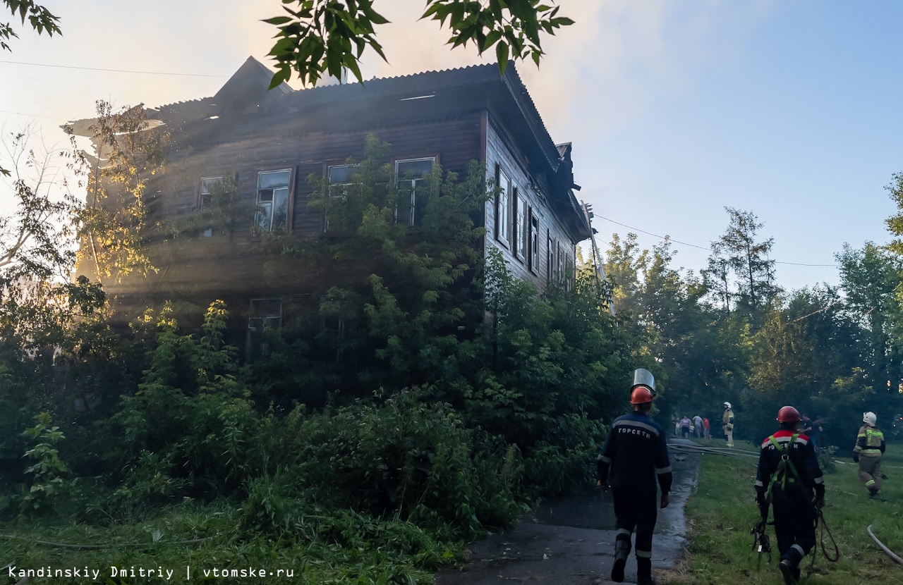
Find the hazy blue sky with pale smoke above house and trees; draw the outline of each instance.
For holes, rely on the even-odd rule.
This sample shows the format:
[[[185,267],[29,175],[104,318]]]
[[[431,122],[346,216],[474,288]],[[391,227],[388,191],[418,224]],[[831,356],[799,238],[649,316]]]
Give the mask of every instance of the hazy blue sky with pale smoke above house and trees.
[[[0,126],[46,144],[94,103],[148,107],[214,95],[248,56],[264,63],[279,0],[42,0],[62,36],[17,26],[0,52]],[[774,238],[777,283],[840,278],[844,243],[887,243],[885,186],[903,172],[903,3],[871,0],[558,0],[576,22],[517,64],[554,142],[573,143],[578,199],[611,234],[644,248],[669,236],[675,267],[698,274],[751,211]],[[450,50],[423,0],[375,0],[388,63],[365,79],[492,62]],[[0,20],[7,20],[0,15]],[[16,21],[17,25],[18,22]],[[293,87],[299,88],[297,83]],[[9,200],[0,191],[0,207]]]

